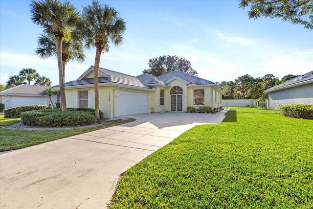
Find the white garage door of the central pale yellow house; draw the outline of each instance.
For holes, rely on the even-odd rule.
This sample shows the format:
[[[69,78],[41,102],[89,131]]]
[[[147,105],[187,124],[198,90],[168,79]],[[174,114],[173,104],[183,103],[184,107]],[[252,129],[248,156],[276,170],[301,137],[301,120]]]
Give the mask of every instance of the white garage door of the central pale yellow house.
[[[130,91],[118,92],[118,115],[148,113],[148,94]]]

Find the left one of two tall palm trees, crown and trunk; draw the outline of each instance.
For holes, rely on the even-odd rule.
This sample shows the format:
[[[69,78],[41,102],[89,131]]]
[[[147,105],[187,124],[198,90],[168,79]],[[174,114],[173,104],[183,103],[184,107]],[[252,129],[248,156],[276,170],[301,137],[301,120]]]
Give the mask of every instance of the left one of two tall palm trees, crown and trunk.
[[[54,35],[58,58],[61,109],[67,111],[62,65],[62,38],[68,35],[69,28],[75,27],[79,22],[79,13],[67,0],[62,2],[59,0],[32,0],[29,6],[32,22],[41,25],[46,34]]]

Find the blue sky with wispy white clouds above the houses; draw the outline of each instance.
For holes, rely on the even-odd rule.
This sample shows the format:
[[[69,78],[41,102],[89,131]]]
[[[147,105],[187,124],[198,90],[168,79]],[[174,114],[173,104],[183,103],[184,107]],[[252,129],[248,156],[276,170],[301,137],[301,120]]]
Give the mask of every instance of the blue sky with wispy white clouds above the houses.
[[[91,0],[70,0],[81,11]],[[176,55],[213,82],[249,74],[304,74],[313,70],[313,31],[280,19],[249,20],[239,0],[101,1],[127,23],[123,45],[101,55],[100,67],[130,75],[148,69],[151,58]],[[0,83],[22,68],[36,69],[58,84],[57,60],[34,50],[42,28],[30,20],[28,0],[0,0]],[[66,81],[94,65],[95,48],[84,63],[69,62]]]

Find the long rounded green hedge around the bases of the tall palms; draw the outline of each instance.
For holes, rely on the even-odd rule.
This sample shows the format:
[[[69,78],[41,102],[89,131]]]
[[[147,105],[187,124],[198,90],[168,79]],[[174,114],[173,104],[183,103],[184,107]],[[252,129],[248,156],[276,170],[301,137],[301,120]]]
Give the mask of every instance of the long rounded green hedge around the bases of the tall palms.
[[[96,123],[97,119],[86,111],[36,110],[22,113],[21,121],[29,126],[56,127],[89,125]]]

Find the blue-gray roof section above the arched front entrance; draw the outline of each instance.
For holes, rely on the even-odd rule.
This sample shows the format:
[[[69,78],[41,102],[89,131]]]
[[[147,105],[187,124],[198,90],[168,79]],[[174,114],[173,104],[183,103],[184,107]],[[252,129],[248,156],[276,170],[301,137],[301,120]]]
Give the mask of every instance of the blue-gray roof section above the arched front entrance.
[[[191,75],[191,74],[179,71],[179,70],[175,70],[175,71],[166,73],[164,75],[160,75],[157,78],[162,80],[163,82],[166,82],[175,76],[185,81],[188,81],[190,84],[195,84],[195,85],[215,84],[212,81],[205,80],[203,78],[199,78],[197,76],[194,76],[194,75]]]

